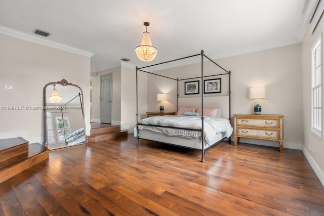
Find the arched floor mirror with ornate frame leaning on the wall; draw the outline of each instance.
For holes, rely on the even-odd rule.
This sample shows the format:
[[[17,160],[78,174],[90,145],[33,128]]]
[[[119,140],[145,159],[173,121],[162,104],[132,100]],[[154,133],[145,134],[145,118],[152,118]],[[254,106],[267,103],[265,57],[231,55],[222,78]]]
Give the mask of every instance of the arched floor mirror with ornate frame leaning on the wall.
[[[44,87],[44,145],[49,149],[87,143],[83,91],[65,79]]]

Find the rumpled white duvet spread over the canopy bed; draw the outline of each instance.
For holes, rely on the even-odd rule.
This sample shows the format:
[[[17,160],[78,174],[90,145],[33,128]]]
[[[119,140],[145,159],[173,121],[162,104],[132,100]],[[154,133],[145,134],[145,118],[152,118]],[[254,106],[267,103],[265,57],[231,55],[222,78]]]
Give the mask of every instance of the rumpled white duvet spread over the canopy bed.
[[[183,116],[183,115],[164,115],[164,116],[152,116],[144,118],[139,121],[141,124],[138,125],[139,130],[146,129],[148,131],[162,133],[170,136],[180,136],[186,138],[198,138],[201,137],[200,131],[190,131],[179,128],[166,128],[151,125],[171,126],[180,128],[192,128],[201,129],[201,117],[195,116]],[[149,125],[151,124],[151,125]],[[226,137],[229,138],[233,132],[233,128],[229,121],[224,118],[210,118],[205,117],[204,119],[204,138],[207,144],[212,145],[212,141],[216,134],[226,133]],[[134,136],[137,137],[136,127],[134,128]]]

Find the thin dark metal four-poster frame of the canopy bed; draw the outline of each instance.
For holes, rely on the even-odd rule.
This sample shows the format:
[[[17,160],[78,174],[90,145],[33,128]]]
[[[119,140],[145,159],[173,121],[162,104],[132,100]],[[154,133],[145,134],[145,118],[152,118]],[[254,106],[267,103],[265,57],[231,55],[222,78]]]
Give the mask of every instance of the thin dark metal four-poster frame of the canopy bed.
[[[191,77],[191,78],[185,78],[185,79],[175,79],[175,78],[171,78],[171,77],[167,77],[167,76],[163,76],[163,75],[160,75],[160,74],[156,74],[156,73],[152,73],[152,72],[148,72],[148,71],[145,71],[145,70],[142,70],[144,68],[149,68],[149,67],[153,67],[153,66],[157,66],[157,65],[161,65],[161,64],[166,64],[166,63],[170,63],[170,62],[174,62],[174,61],[179,61],[179,60],[183,60],[183,59],[188,59],[188,58],[191,58],[191,57],[195,57],[195,56],[201,56],[201,76],[198,76],[198,77]],[[221,68],[222,70],[226,71],[226,73],[222,73],[222,74],[215,74],[215,75],[208,75],[208,76],[204,76],[204,57],[207,58],[209,61],[213,62],[215,65],[217,65],[219,68]],[[201,79],[201,83],[204,83],[204,78],[205,77],[210,77],[210,76],[221,76],[221,75],[228,75],[229,76],[229,79],[228,79],[228,83],[229,83],[229,90],[228,90],[228,95],[229,95],[229,118],[231,116],[231,71],[227,71],[225,70],[223,67],[221,67],[219,64],[217,64],[216,62],[214,62],[212,59],[210,59],[208,56],[206,56],[204,54],[204,50],[201,50],[201,52],[199,54],[196,54],[196,55],[192,55],[192,56],[187,56],[187,57],[183,57],[183,58],[179,58],[179,59],[174,59],[174,60],[170,60],[170,61],[166,61],[166,62],[161,62],[161,63],[157,63],[157,64],[153,64],[153,65],[149,65],[149,66],[145,66],[145,67],[136,67],[136,118],[137,118],[137,122],[136,122],[136,129],[137,129],[137,135],[136,135],[136,146],[139,146],[139,139],[142,139],[142,138],[139,138],[139,129],[138,129],[138,125],[140,125],[138,123],[139,119],[139,114],[138,114],[138,71],[142,71],[142,72],[145,72],[145,73],[149,73],[149,74],[153,74],[153,75],[156,75],[156,76],[161,76],[161,77],[165,77],[165,78],[169,78],[169,79],[173,79],[173,80],[176,80],[177,81],[177,109],[179,109],[179,81],[181,80],[188,80],[188,79],[196,79],[196,78],[200,78]],[[204,89],[204,87],[203,87]],[[204,148],[204,142],[205,142],[205,139],[204,139],[204,91],[201,91],[201,129],[199,129],[198,131],[201,131],[201,162],[204,162],[205,161],[205,150],[211,148],[212,146],[216,145],[217,143],[213,144],[212,146],[209,146],[208,148]],[[152,125],[152,126],[160,126],[161,125]],[[165,127],[165,126],[163,126]],[[173,127],[175,128],[175,127]],[[181,129],[188,129],[188,130],[194,130],[194,131],[197,131],[197,129],[192,129],[192,128],[181,128]],[[222,141],[222,140],[221,140]],[[174,145],[174,144],[170,144],[168,143],[169,145]],[[185,146],[183,146],[185,147]]]

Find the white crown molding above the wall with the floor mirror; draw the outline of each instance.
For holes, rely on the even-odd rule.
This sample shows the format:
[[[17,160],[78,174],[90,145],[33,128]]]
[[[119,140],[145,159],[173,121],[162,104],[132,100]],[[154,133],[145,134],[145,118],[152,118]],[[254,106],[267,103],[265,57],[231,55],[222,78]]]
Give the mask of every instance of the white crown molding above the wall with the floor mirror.
[[[86,56],[86,57],[91,57],[94,55],[94,53],[91,53],[91,52],[88,52],[85,50],[80,50],[80,49],[77,49],[74,47],[60,44],[58,42],[54,42],[49,39],[39,38],[37,36],[30,35],[30,34],[27,34],[27,33],[21,32],[21,31],[17,31],[17,30],[11,29],[11,28],[7,28],[5,26],[0,26],[0,33],[9,35],[9,36],[13,36],[13,37],[17,37],[20,39],[28,40],[31,42],[35,42],[36,44],[41,44],[41,45],[52,47],[55,49],[59,49],[59,50],[67,51],[70,53]]]

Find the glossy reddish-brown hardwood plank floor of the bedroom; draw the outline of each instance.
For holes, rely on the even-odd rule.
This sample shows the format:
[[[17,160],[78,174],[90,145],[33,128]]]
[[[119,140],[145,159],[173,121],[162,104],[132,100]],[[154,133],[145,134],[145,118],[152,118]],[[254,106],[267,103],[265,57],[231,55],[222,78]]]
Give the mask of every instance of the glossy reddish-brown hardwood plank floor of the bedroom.
[[[300,150],[219,143],[200,154],[132,136],[52,150],[0,184],[0,215],[324,215]]]

